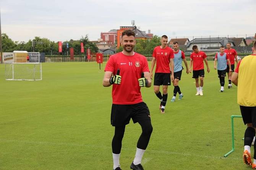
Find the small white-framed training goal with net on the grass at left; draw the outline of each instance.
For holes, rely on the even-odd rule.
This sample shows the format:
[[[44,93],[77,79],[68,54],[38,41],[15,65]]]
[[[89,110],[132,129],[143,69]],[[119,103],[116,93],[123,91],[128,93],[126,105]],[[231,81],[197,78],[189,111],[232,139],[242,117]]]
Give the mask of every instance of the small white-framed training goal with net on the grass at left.
[[[41,63],[5,64],[6,80],[42,80]]]

